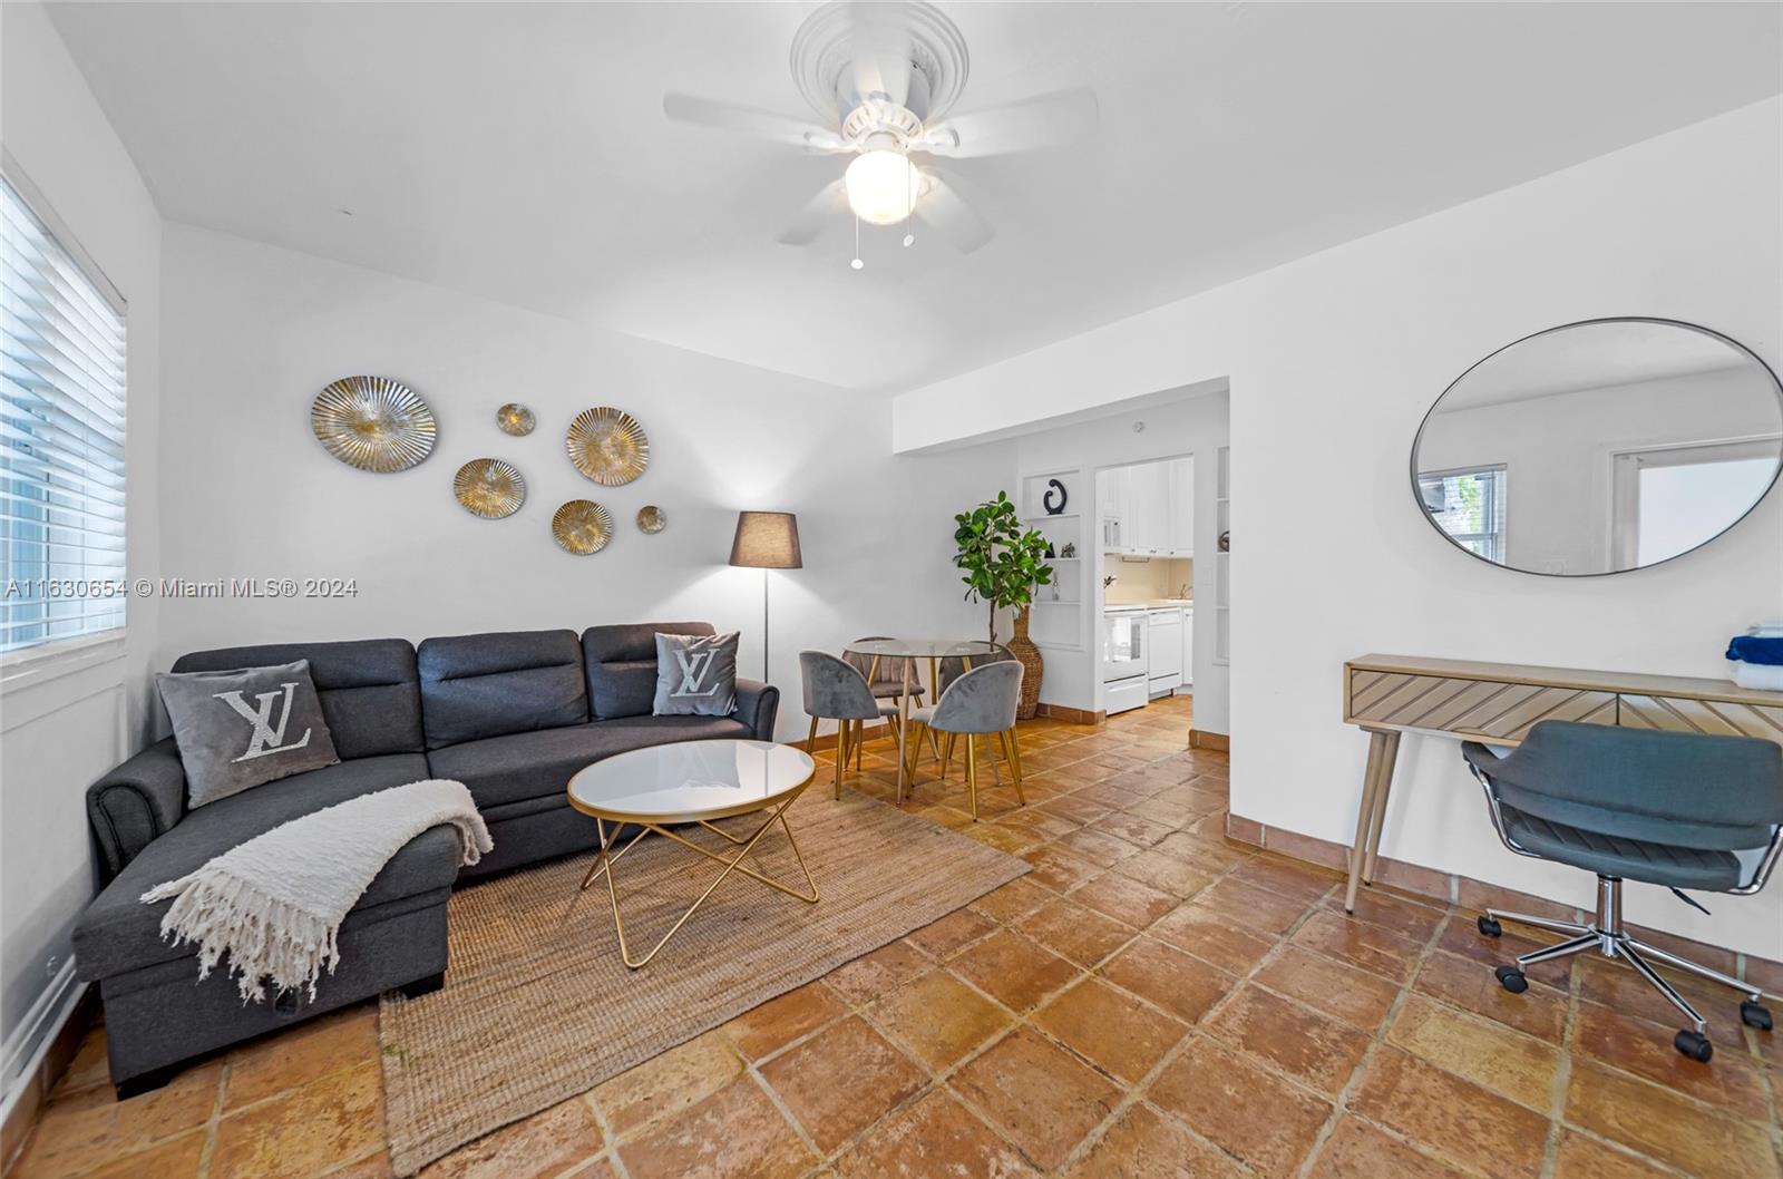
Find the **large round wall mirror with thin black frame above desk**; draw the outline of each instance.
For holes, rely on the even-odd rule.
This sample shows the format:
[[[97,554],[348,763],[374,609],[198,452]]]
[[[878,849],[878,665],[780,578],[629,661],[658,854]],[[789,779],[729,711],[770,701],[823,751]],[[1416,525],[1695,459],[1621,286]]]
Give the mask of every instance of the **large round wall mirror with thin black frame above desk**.
[[[1751,350],[1671,319],[1590,319],[1462,373],[1417,430],[1412,494],[1480,560],[1590,576],[1708,544],[1779,467],[1783,387]]]

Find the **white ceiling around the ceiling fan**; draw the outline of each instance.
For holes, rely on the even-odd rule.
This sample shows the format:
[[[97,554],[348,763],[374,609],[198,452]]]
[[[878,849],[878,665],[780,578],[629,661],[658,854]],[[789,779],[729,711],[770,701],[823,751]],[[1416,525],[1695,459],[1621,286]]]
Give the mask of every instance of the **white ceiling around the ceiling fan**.
[[[806,116],[811,4],[52,11],[171,219],[884,391],[1783,89],[1772,4],[945,7],[956,111],[1089,84],[1102,127],[954,168],[984,250],[874,230],[861,273],[847,219],[774,241],[838,161],[661,114]]]

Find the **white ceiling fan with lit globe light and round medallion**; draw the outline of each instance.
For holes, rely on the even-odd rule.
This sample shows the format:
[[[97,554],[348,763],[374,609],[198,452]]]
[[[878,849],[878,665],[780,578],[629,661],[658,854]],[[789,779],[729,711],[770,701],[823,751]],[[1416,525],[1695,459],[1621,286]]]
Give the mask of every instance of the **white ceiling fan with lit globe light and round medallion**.
[[[933,227],[963,253],[988,243],[991,227],[959,194],[938,161],[1029,152],[1088,136],[1097,95],[1066,89],[1000,107],[952,114],[966,84],[966,41],[922,0],[836,0],[799,25],[792,75],[817,112],[806,121],[717,98],[663,95],[663,112],[683,123],[744,132],[818,155],[850,155],[779,234],[802,246],[827,218],[856,218],[854,259],[861,269],[859,221]]]

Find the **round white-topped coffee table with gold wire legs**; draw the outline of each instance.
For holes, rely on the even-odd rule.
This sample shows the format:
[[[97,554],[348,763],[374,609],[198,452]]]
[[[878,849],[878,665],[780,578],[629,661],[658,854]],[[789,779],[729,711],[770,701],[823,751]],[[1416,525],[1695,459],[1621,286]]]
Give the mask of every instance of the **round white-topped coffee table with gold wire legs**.
[[[786,808],[797,801],[804,788],[817,776],[817,763],[811,756],[792,746],[776,746],[767,740],[686,740],[669,746],[651,746],[649,749],[631,749],[587,765],[569,779],[569,804],[585,815],[592,815],[596,831],[601,837],[601,849],[594,867],[583,878],[581,886],[594,883],[596,876],[606,876],[606,894],[613,903],[613,929],[619,933],[619,956],[628,967],[637,970],[656,956],[669,938],[686,924],[686,919],[706,903],[731,874],[738,872],[754,881],[777,888],[788,897],[797,897],[806,904],[817,904],[817,881],[804,863],[792,826],[786,822]],[[715,828],[719,819],[736,815],[767,813],[761,824],[749,835],[738,837]],[[744,865],[744,858],[756,842],[767,835],[768,828],[779,824],[792,845],[792,854],[804,872],[808,892],[795,892],[777,879]],[[613,849],[619,831],[624,826],[638,828],[624,847]],[[726,840],[735,854],[720,854],[701,847],[669,824],[697,824]],[[628,851],[637,847],[645,835],[661,835],[681,847],[699,853],[706,860],[724,865],[699,899],[681,913],[669,933],[665,933],[647,954],[631,958],[626,944],[626,920],[619,911],[619,885],[613,879],[613,865]],[[695,863],[695,862],[690,862]]]

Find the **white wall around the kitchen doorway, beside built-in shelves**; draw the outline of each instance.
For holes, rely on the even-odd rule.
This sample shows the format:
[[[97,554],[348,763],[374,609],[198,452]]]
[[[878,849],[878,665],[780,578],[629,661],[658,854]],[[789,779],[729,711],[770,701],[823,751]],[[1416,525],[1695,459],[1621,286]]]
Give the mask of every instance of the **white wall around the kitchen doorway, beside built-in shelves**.
[[[1134,425],[1145,423],[1136,432]],[[1195,455],[1195,544],[1212,553],[1218,535],[1218,508],[1214,487],[1218,482],[1216,451],[1228,441],[1228,407],[1223,385],[1177,391],[1171,400],[1129,407],[1093,421],[1075,421],[1016,439],[1018,462],[1023,473],[1054,467],[1082,467],[1088,489],[1095,487],[1095,473],[1102,467],[1120,467],[1154,458]],[[1091,524],[1091,553],[1098,553],[1100,505],[1084,507]],[[1227,667],[1214,664],[1214,560],[1195,562],[1195,728],[1209,733],[1227,731]],[[1041,681],[1041,699],[1070,708],[1095,712],[1100,708],[1100,571],[1102,562],[1089,562],[1089,580],[1084,594],[1089,606],[1084,621],[1089,626],[1084,655],[1047,653],[1047,678]]]

